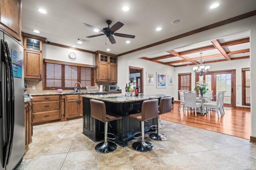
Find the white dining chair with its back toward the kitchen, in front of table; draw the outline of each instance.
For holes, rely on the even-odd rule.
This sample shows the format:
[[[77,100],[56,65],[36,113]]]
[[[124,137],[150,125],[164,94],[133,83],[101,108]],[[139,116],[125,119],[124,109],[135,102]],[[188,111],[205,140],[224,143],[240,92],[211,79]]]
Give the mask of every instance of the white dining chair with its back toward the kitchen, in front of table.
[[[196,116],[196,108],[202,106],[202,100],[196,100],[196,92],[184,92],[184,99],[185,99],[184,115],[186,113],[186,110],[188,110],[189,107],[190,108],[193,107],[194,108],[194,112],[195,112],[195,116]],[[201,103],[198,103],[200,101],[201,101]]]

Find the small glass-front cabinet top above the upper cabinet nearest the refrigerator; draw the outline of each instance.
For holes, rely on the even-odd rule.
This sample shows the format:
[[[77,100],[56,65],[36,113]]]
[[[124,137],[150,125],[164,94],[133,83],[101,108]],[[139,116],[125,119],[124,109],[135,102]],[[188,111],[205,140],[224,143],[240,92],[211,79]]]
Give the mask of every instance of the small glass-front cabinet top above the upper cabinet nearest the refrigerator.
[[[42,40],[24,37],[23,40],[24,50],[36,51],[42,53]]]

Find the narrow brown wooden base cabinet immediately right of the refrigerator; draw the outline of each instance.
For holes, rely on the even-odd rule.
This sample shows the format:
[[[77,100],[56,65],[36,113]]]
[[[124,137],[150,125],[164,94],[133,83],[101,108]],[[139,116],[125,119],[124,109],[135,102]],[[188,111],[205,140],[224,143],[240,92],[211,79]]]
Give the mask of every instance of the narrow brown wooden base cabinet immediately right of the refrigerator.
[[[32,143],[32,105],[31,102],[26,102],[24,104],[24,115],[25,115],[25,148]]]

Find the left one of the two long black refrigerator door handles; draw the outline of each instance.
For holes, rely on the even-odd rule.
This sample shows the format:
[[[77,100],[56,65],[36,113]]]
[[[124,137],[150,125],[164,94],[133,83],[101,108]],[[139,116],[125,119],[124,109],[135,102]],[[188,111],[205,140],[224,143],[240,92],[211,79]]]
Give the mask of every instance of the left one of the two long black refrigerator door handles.
[[[4,40],[1,40],[1,45],[2,45],[2,54],[1,54],[1,59],[4,62],[4,68],[5,68],[5,110],[4,110],[4,125],[5,125],[5,144],[2,147],[3,150],[3,166],[5,167],[7,164],[7,159],[8,159],[8,153],[9,153],[9,147],[10,147],[10,112],[11,112],[11,107],[10,107],[10,69],[9,69],[9,64],[8,64],[8,56],[6,52],[6,48],[4,45]]]

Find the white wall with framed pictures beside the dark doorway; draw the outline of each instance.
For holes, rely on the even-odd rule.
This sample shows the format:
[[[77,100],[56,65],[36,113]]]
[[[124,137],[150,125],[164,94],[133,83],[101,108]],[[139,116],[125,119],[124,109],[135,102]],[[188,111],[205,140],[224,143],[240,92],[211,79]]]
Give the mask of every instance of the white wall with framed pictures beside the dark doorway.
[[[174,75],[174,67],[165,66],[163,64],[158,64],[158,63],[153,63],[153,62],[142,60],[142,59],[132,59],[132,60],[127,61],[127,65],[125,66],[127,68],[127,70],[129,69],[129,66],[143,68],[143,82],[144,82],[144,92],[143,93],[173,95],[173,86],[168,85],[167,81],[168,81],[168,75],[172,75],[172,76]],[[119,67],[119,65],[118,65],[118,67]],[[153,73],[154,85],[146,85],[147,72]],[[167,74],[166,88],[156,88],[156,72],[161,72],[161,73]],[[120,72],[118,72],[118,75],[120,75]],[[127,77],[127,76],[123,75],[123,77]],[[120,77],[118,77],[118,78],[120,78]],[[124,79],[124,81],[125,82],[123,84],[118,85],[120,88],[122,87],[122,89],[125,87],[126,82],[128,82],[128,77],[127,77],[127,79]],[[124,90],[122,90],[122,91],[124,91]]]

